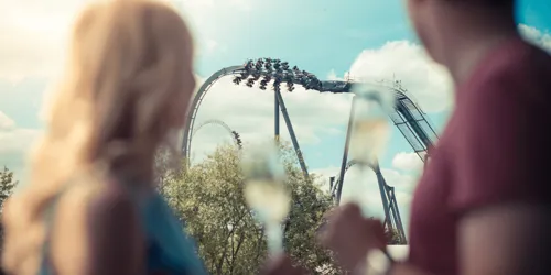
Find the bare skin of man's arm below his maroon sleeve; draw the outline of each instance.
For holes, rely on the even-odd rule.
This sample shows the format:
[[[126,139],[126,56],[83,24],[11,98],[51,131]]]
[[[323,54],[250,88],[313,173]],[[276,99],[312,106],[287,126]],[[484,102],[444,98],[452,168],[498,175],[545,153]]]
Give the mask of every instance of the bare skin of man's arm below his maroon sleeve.
[[[551,216],[530,205],[503,205],[462,219],[458,232],[463,275],[543,275],[551,272]]]

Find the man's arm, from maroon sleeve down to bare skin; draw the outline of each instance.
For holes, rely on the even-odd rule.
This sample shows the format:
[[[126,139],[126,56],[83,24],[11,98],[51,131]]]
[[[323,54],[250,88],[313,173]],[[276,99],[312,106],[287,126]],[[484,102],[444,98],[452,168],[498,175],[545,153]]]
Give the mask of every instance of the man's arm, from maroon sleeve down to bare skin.
[[[549,274],[549,114],[537,79],[509,72],[474,88],[464,105],[450,204],[463,275]],[[548,261],[543,258],[547,257]],[[543,272],[547,271],[547,272]]]

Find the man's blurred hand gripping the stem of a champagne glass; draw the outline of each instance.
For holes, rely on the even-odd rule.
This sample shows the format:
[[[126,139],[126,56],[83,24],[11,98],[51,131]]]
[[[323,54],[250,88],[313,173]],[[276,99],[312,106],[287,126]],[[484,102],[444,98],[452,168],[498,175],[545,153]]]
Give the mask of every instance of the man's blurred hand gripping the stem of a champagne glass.
[[[385,250],[386,237],[380,221],[366,219],[355,204],[335,209],[321,235],[345,270],[354,270],[371,249]]]

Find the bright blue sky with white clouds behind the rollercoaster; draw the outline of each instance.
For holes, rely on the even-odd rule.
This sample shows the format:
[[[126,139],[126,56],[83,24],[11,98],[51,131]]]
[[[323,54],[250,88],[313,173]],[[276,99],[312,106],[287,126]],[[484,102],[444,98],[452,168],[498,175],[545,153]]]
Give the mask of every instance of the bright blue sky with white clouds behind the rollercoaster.
[[[26,153],[43,131],[42,110],[50,84],[66,52],[76,12],[88,0],[0,0],[0,165],[24,180]],[[398,79],[440,132],[453,108],[452,82],[432,63],[412,32],[402,0],[173,0],[192,26],[199,84],[216,70],[249,58],[273,57],[315,74],[341,79],[346,73],[369,79]],[[548,0],[521,0],[519,29],[551,51]],[[348,95],[322,95],[298,88],[283,95],[311,173],[327,180],[338,174],[350,108]],[[184,110],[182,110],[184,112]],[[197,123],[220,120],[244,142],[273,135],[273,95],[235,86],[222,78],[206,95]],[[281,121],[282,140],[289,141]],[[220,127],[206,125],[194,135],[192,157],[204,158],[231,142]],[[409,220],[411,193],[421,161],[395,130],[380,160],[396,187],[402,218]],[[367,201],[375,216],[381,202],[375,175],[352,168],[345,199]]]

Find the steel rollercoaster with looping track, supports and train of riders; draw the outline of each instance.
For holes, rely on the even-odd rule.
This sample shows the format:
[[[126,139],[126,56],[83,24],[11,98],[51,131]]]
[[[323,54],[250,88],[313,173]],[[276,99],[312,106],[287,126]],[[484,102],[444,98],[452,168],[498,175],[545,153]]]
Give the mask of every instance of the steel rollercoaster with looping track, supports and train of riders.
[[[292,92],[295,89],[295,85],[299,85],[304,87],[306,90],[345,94],[352,92],[352,88],[354,85],[365,82],[363,80],[357,81],[352,79],[320,80],[314,74],[306,70],[301,70],[296,66],[291,67],[288,62],[282,62],[276,58],[250,59],[247,61],[244,65],[223,68],[213,74],[208,79],[206,79],[206,81],[199,87],[198,91],[193,98],[191,113],[186,119],[182,141],[182,151],[184,157],[188,157],[190,155],[192,138],[201,128],[206,124],[217,124],[223,127],[228,133],[231,134],[236,145],[239,147],[241,146],[239,134],[222,121],[205,121],[195,128],[197,111],[205,98],[205,95],[210,89],[214,82],[225,76],[234,76],[234,84],[245,84],[250,88],[255,87],[256,82],[258,82],[258,87],[261,90],[267,90],[268,86],[271,86],[274,95],[274,138],[276,140],[279,140],[280,136],[281,114],[289,131],[293,148],[296,153],[299,164],[305,178],[309,178],[309,170],[304,162],[299,141],[295,136],[291,118],[289,117],[289,113],[287,111],[285,102],[283,101],[283,98],[281,96],[282,86],[287,88],[288,92]],[[428,150],[437,140],[437,135],[426,120],[425,113],[411,99],[411,97],[408,96],[407,89],[402,87],[400,81],[382,80],[376,81],[376,85],[379,85],[380,87],[386,88],[389,92],[395,94],[396,106],[395,111],[389,114],[390,120],[406,138],[406,140],[411,145],[417,155],[421,158],[421,161],[426,162],[429,157]],[[352,134],[352,124],[354,122],[355,105],[356,100],[354,97],[352,100],[350,116],[348,119],[348,128],[341,170],[338,175],[329,178],[329,190],[337,204],[341,202],[345,174],[350,167],[356,164],[355,160],[348,160],[348,147]],[[398,208],[398,202],[396,199],[395,188],[386,183],[378,164],[374,165],[371,168],[377,175],[378,187],[381,196],[382,207],[385,210],[383,224],[389,230],[396,230],[396,232],[398,232],[399,234],[400,243],[406,244],[407,239],[400,217],[400,211]]]

